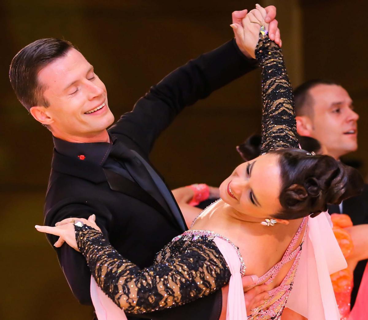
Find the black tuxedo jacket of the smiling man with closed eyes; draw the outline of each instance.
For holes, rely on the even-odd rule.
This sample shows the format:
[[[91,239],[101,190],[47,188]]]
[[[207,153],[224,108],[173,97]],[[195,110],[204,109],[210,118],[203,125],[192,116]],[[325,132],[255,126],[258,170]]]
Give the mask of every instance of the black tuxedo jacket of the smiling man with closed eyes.
[[[255,62],[245,58],[231,40],[189,61],[151,87],[134,109],[109,129],[109,134],[149,162],[155,140],[185,106],[254,68]],[[88,162],[87,158],[81,161],[77,156],[67,157],[54,150],[45,224],[54,226],[67,217],[87,218],[93,213],[111,244],[139,267],[152,265],[156,252],[185,230],[180,214],[174,216],[173,212],[163,209],[137,184],[104,169],[103,165]],[[57,240],[53,235],[48,235],[48,239],[51,244]],[[68,245],[56,252],[75,297],[83,304],[91,304],[91,274],[84,257]],[[186,306],[152,313],[151,317],[210,319],[212,309],[213,319],[218,319],[216,314],[221,305],[215,303],[216,296],[219,301],[220,293],[213,294]]]

